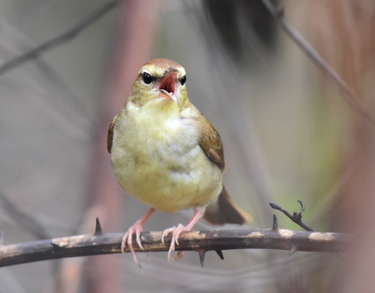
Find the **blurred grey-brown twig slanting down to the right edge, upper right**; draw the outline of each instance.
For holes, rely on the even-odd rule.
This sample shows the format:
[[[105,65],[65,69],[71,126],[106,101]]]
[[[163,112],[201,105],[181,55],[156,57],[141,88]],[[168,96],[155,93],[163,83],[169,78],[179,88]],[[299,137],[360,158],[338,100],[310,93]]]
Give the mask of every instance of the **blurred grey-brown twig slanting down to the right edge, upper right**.
[[[348,84],[341,78],[341,76],[321,57],[317,50],[284,18],[284,9],[276,8],[270,0],[261,0],[271,15],[279,22],[284,32],[302,49],[305,54],[317,64],[318,67],[334,82],[336,87],[341,92],[344,100],[358,113],[363,115],[372,124],[375,124],[375,117],[358,101],[356,94],[348,86]]]

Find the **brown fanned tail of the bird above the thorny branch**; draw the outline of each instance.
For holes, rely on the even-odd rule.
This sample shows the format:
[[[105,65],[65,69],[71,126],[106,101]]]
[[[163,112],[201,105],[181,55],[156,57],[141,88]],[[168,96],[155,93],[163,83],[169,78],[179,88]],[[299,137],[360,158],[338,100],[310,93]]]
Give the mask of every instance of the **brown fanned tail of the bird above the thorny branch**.
[[[251,215],[233,202],[224,185],[216,201],[207,206],[203,218],[214,225],[242,225],[253,220]]]

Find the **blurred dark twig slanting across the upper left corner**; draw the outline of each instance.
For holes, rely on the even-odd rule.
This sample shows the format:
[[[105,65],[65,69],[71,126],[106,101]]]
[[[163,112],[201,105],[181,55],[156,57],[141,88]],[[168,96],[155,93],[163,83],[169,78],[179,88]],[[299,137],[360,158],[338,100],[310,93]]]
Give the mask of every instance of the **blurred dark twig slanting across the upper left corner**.
[[[79,33],[81,33],[85,28],[87,28],[89,25],[93,24],[95,21],[97,21],[101,16],[105,15],[108,11],[112,10],[117,4],[120,3],[120,0],[112,0],[108,3],[105,3],[102,7],[100,7],[98,10],[92,12],[89,16],[87,16],[83,21],[72,27],[69,31],[61,34],[60,36],[57,36],[53,38],[52,40],[49,40],[46,43],[43,43],[42,45],[37,46],[34,49],[31,49],[30,51],[26,52],[23,55],[20,55],[2,66],[0,66],[0,75],[19,66],[20,64],[39,57],[40,54],[43,52],[46,52],[61,43],[68,42],[69,40],[76,37]]]

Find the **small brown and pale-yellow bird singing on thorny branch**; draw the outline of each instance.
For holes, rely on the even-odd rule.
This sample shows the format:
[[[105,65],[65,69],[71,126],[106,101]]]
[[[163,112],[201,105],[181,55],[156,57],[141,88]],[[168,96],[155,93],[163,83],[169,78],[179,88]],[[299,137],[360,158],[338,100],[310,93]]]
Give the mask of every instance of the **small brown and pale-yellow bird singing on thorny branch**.
[[[180,233],[191,230],[202,217],[214,225],[252,220],[226,192],[222,140],[188,99],[185,69],[175,61],[153,59],[139,70],[126,102],[110,124],[107,148],[120,186],[150,206],[121,243],[121,251],[128,245],[139,267],[132,238],[135,234],[143,249],[140,233],[156,210],[194,210],[186,226],[178,224],[163,231],[163,243],[172,233],[168,261],[183,256],[179,251],[176,258],[171,257]]]

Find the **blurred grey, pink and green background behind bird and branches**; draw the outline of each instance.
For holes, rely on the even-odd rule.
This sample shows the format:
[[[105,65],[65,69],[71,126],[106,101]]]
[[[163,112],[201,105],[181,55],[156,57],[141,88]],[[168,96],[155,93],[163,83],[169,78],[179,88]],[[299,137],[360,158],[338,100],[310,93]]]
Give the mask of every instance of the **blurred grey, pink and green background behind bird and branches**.
[[[104,0],[3,0],[0,66],[69,31]],[[74,38],[1,72],[0,230],[5,244],[125,232],[148,209],[117,184],[107,130],[141,66],[185,67],[191,102],[222,137],[224,182],[254,222],[300,228],[269,206],[299,211],[316,231],[356,233],[337,254],[187,252],[43,261],[0,268],[0,292],[374,292],[374,124],[354,111],[258,0],[124,0]],[[285,18],[375,115],[375,4],[285,0]],[[156,212],[145,230],[187,223]],[[195,229],[233,229],[235,225]],[[246,226],[245,226],[246,228]]]

